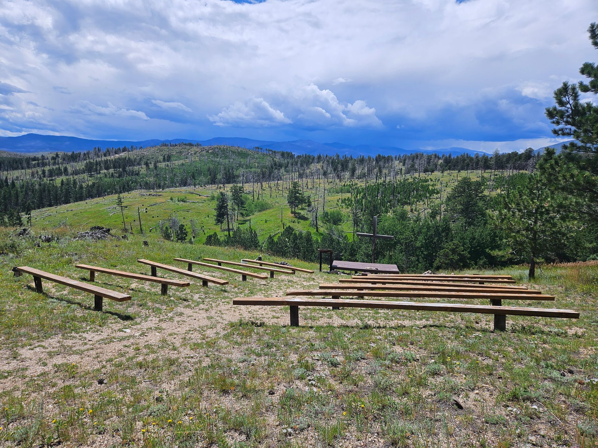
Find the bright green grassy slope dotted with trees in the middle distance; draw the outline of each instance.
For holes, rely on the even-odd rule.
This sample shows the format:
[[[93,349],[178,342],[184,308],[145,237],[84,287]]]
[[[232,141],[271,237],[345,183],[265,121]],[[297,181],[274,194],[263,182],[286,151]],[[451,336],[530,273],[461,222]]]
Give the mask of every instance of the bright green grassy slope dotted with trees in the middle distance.
[[[447,172],[444,174],[429,174],[427,176],[438,182],[443,182],[444,197],[447,192],[450,192],[459,174],[456,172]],[[463,173],[460,176],[462,177]],[[478,176],[480,176],[480,173],[469,174],[469,177],[472,177],[472,179]],[[426,175],[422,177],[426,177]],[[356,185],[362,186],[363,184],[364,182],[356,182]],[[309,230],[315,232],[315,228],[310,225],[310,216],[306,208],[298,209],[295,214],[291,213],[291,208],[287,203],[288,193],[286,193],[286,186],[285,194],[283,194],[282,182],[279,183],[279,189],[274,188],[274,183],[271,185],[273,188],[271,189],[270,196],[269,189],[267,189],[266,183],[264,183],[263,197],[260,196],[260,185],[258,183],[255,185],[247,183],[245,185],[246,200],[248,202],[251,202],[253,197],[256,200],[260,198],[260,200],[267,203],[269,208],[249,216],[239,216],[239,220],[233,223],[234,228],[237,226],[248,228],[251,224],[252,228],[258,232],[260,240],[264,240],[267,235],[282,231],[283,222],[285,225],[291,225],[302,231]],[[325,186],[328,191],[325,195],[325,210],[340,210],[343,213],[341,228],[352,238],[352,234],[350,234],[352,231],[350,210],[346,206],[343,207],[341,202],[342,198],[347,198],[348,194],[338,192],[341,186],[338,182],[322,182],[319,185],[319,191],[322,191],[322,186]],[[203,243],[206,235],[212,232],[219,232],[221,234],[226,232],[226,226],[221,230],[220,226],[215,224],[214,210],[216,195],[221,191],[230,192],[230,187],[231,184],[225,185],[224,188],[222,185],[209,185],[197,188],[170,188],[157,191],[139,190],[124,193],[121,197],[126,207],[124,210],[124,220],[127,231],[130,232],[132,229],[135,234],[141,232],[138,218],[139,207],[142,226],[148,238],[156,235],[155,228],[158,225],[158,221],[176,214],[181,219],[181,222],[187,225],[189,231],[190,220],[193,218],[197,220],[198,226],[201,229],[197,235],[197,241]],[[307,194],[313,194],[314,189],[311,182],[306,182],[304,188]],[[330,191],[332,191],[332,194]],[[433,201],[434,199],[432,199]],[[428,208],[426,205],[429,205],[429,203],[419,202],[416,208],[420,211],[426,210]],[[116,232],[118,232],[118,229],[123,229],[123,216],[121,216],[120,210],[117,208],[117,195],[107,195],[102,198],[32,211],[32,227],[40,231],[48,231],[58,226],[69,226],[78,231],[83,231],[94,225],[105,226]],[[324,225],[322,217],[320,217],[320,225]]]

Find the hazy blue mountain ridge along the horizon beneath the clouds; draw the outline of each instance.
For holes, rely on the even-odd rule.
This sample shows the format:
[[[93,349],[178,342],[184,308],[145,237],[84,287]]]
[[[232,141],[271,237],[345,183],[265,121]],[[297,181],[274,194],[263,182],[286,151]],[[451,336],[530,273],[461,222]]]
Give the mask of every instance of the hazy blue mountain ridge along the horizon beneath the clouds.
[[[352,155],[353,157],[383,155],[404,155],[423,152],[424,154],[438,155],[488,155],[483,151],[472,151],[468,148],[441,148],[441,149],[403,149],[395,146],[376,146],[376,145],[347,145],[346,143],[318,143],[313,140],[291,140],[289,142],[274,142],[270,140],[254,140],[245,137],[214,137],[209,140],[193,139],[172,139],[172,140],[92,140],[81,139],[70,136],[47,136],[41,134],[25,134],[17,137],[0,137],[0,150],[17,152],[21,154],[32,154],[41,152],[78,152],[89,151],[99,146],[105,148],[118,148],[118,146],[157,146],[160,143],[201,143],[202,145],[230,145],[241,146],[243,148],[269,148],[274,151],[288,151],[294,154],[328,154],[328,155]]]

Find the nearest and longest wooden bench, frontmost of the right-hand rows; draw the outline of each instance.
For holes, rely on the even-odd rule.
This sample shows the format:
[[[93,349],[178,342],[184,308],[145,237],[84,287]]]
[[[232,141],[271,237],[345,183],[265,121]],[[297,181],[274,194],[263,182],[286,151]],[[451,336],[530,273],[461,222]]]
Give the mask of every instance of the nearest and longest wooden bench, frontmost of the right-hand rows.
[[[495,331],[506,330],[506,318],[504,325],[497,326],[496,316],[536,316],[536,317],[562,317],[579,318],[579,313],[570,309],[551,308],[524,308],[518,306],[494,306],[494,305],[463,305],[460,303],[421,303],[421,302],[394,302],[390,300],[341,300],[341,299],[296,299],[289,297],[238,297],[233,299],[233,305],[260,305],[260,306],[289,306],[291,314],[291,326],[299,326],[300,306],[332,306],[338,308],[380,308],[380,309],[412,309],[416,311],[449,311],[449,312],[472,312],[477,314],[494,314]]]

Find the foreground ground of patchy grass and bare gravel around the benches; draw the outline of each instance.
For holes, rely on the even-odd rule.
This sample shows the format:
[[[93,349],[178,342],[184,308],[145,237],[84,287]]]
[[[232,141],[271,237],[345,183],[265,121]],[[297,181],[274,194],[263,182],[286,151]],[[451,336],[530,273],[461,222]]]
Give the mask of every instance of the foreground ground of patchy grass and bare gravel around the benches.
[[[190,207],[166,198],[152,198],[163,205],[150,209]],[[104,205],[92,205],[108,214]],[[93,213],[80,213],[88,213],[77,217],[86,228]],[[116,226],[117,217],[109,219]],[[160,239],[145,247],[141,235],[74,240],[74,230],[34,226],[30,236],[0,234],[2,446],[590,447],[597,441],[595,263],[547,266],[534,284],[524,280],[524,268],[501,271],[556,296],[555,303],[517,305],[576,309],[575,321],[508,317],[508,331],[493,333],[492,317],[484,315],[302,308],[294,328],[288,308],[233,306],[231,299],[280,296],[338,276],[316,271],[241,282],[210,269],[230,284],[206,289],[193,282],[160,296],[155,284],[98,274],[100,286],[133,296],[105,300],[103,313],[92,310],[90,294],[48,282],[38,294],[30,276],[12,276],[19,265],[86,280],[75,263],[148,274],[136,259],[176,264],[173,257],[258,255]],[[44,243],[41,233],[54,238]]]

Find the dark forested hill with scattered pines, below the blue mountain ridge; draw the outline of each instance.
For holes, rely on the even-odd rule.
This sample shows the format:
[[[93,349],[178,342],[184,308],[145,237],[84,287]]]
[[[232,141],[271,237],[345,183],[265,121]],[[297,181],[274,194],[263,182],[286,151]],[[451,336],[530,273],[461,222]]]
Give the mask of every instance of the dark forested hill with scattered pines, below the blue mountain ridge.
[[[435,171],[518,171],[529,169],[533,158],[531,150],[474,157],[408,154],[341,158],[194,143],[143,149],[94,148],[32,157],[0,155],[0,214],[10,223],[15,213],[136,189],[260,183],[313,176],[376,182]]]

